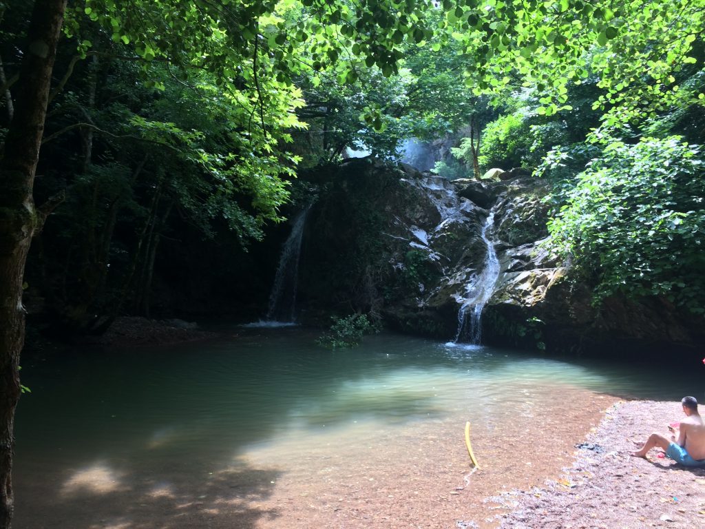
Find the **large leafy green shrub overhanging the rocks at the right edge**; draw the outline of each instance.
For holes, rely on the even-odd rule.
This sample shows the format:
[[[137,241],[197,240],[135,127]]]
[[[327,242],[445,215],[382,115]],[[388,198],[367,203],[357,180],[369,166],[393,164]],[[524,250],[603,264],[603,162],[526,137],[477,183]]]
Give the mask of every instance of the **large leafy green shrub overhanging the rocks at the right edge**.
[[[611,142],[563,189],[549,221],[557,249],[614,293],[663,296],[705,312],[705,170],[699,145],[679,136]]]

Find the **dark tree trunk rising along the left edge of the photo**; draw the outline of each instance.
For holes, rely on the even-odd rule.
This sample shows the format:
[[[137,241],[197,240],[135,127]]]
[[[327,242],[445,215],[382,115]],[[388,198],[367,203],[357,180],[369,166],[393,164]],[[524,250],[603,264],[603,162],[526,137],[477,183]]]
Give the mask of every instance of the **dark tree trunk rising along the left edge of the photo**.
[[[13,425],[25,341],[22,284],[27,250],[42,220],[35,209],[32,185],[65,8],[66,0],[35,1],[15,113],[0,160],[0,529],[10,528],[14,506]]]

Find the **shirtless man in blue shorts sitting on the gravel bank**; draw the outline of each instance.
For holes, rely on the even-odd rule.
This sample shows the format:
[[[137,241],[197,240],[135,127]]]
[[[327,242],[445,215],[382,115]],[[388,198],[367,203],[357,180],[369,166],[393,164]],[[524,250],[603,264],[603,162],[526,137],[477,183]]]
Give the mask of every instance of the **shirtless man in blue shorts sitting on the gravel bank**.
[[[675,437],[676,429],[669,426],[668,430],[673,432],[670,439],[661,434],[651,434],[642,449],[630,455],[646,458],[646,452],[660,446],[666,450],[666,456],[683,466],[705,466],[705,421],[698,413],[698,401],[687,396],[680,403],[685,418],[678,425],[678,439]]]

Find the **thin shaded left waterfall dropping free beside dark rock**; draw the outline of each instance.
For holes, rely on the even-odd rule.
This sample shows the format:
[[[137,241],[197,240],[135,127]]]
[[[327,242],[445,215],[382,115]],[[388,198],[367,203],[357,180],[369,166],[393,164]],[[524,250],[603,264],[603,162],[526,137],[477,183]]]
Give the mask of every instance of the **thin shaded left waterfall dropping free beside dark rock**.
[[[282,247],[274,284],[269,294],[269,308],[266,313],[268,322],[293,323],[295,321],[299,257],[309,209],[311,209],[310,204],[296,216],[291,233]]]

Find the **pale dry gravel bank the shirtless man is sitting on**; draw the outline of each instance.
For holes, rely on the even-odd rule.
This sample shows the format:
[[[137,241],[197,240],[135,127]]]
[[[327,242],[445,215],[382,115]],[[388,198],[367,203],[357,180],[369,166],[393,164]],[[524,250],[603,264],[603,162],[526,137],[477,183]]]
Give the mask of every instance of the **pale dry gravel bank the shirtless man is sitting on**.
[[[705,468],[680,466],[660,449],[649,461],[629,455],[681,417],[679,402],[616,403],[577,445],[565,479],[493,498],[512,508],[500,527],[705,528]]]

